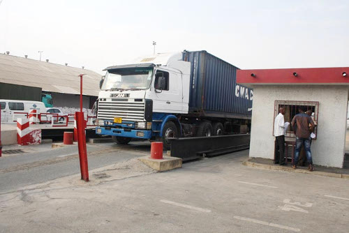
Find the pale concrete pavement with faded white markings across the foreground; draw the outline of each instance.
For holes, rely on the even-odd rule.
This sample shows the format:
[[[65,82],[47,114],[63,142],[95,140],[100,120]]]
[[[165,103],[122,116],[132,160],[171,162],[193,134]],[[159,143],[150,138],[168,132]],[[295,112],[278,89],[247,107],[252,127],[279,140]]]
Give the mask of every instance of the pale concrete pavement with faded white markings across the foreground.
[[[128,160],[90,183],[3,193],[0,232],[348,232],[348,180],[246,167],[247,155],[163,173]]]

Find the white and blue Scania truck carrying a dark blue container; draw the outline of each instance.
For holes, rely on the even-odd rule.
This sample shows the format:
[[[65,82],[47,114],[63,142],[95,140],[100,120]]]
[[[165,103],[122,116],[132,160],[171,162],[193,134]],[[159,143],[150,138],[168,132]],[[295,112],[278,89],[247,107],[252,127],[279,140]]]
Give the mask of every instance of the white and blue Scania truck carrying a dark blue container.
[[[105,68],[96,134],[117,144],[249,133],[253,90],[237,67],[206,51],[159,53]]]

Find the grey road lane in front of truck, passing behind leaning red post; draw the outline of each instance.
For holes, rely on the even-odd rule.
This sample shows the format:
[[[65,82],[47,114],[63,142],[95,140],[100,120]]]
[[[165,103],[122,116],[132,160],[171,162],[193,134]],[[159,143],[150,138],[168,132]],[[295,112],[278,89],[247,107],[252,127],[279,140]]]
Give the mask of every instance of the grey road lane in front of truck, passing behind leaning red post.
[[[43,144],[22,149],[29,153],[0,158],[0,193],[80,173],[77,146],[50,149],[50,144]],[[128,146],[87,144],[89,169],[144,156],[148,151],[149,142],[131,142]]]

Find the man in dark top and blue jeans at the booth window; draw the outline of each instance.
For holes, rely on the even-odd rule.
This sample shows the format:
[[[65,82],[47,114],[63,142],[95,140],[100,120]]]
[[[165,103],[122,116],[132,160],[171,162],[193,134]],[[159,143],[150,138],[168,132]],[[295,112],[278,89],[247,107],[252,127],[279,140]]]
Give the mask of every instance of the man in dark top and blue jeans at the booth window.
[[[302,145],[304,145],[304,150],[306,151],[306,160],[308,160],[309,163],[309,171],[313,171],[313,160],[311,158],[311,150],[310,150],[310,144],[311,144],[311,131],[309,130],[309,124],[312,128],[314,128],[315,124],[313,119],[309,117],[309,115],[305,114],[304,107],[299,107],[299,114],[295,115],[292,119],[292,128],[295,130],[296,134],[296,150],[295,150],[295,160],[293,161],[293,169],[297,168],[298,163],[298,157],[299,157],[299,151],[302,148]]]

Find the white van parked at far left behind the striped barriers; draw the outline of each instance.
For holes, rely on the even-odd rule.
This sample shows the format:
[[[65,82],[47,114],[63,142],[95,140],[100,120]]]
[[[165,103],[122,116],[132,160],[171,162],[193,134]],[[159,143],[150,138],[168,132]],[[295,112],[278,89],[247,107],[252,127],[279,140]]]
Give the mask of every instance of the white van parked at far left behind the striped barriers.
[[[1,105],[1,123],[11,123],[17,121],[17,118],[27,118],[26,114],[31,110],[38,113],[46,112],[43,102],[30,100],[0,100]]]

